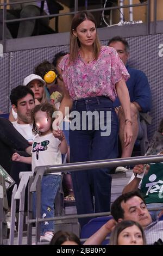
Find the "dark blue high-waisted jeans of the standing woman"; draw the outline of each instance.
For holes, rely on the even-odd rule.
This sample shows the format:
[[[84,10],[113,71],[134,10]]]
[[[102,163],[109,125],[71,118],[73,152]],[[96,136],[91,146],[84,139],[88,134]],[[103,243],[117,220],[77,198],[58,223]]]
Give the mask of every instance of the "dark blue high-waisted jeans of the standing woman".
[[[74,116],[70,125],[71,162],[118,157],[118,119],[112,101],[105,96],[75,100],[71,114],[74,111],[77,111],[78,118]],[[85,111],[90,111],[89,114],[96,111],[96,117],[91,118],[89,115],[89,118],[84,121],[82,114]],[[109,117],[106,117],[107,112],[110,114]],[[103,117],[99,118],[101,113]],[[110,135],[102,136],[101,132],[104,130],[100,129],[100,125],[97,129],[98,121],[102,121],[108,130],[110,127]],[[74,124],[77,125],[77,129],[74,129]],[[109,171],[108,168],[99,168],[72,172],[78,214],[110,211],[111,176]],[[95,204],[93,204],[93,197]],[[79,219],[80,225],[83,226],[89,220],[90,218]]]

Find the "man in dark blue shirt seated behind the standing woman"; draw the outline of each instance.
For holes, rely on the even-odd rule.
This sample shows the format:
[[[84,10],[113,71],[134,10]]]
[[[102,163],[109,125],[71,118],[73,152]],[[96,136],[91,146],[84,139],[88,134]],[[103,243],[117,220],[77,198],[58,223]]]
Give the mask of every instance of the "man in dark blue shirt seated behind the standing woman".
[[[152,96],[151,90],[149,87],[148,79],[144,72],[141,70],[130,68],[127,65],[127,60],[129,57],[129,45],[128,42],[121,38],[120,36],[115,36],[114,38],[110,39],[108,42],[108,46],[115,48],[118,55],[120,56],[124,65],[130,74],[130,78],[126,82],[130,101],[131,101],[131,122],[133,123],[133,140],[132,142],[126,147],[124,143],[124,125],[125,125],[125,118],[124,113],[122,111],[122,107],[120,106],[120,101],[118,97],[114,102],[114,106],[116,108],[116,112],[118,114],[118,119],[120,121],[120,141],[122,147],[122,155],[121,157],[130,157],[134,148],[134,144],[139,133],[139,112],[148,112],[152,107]],[[129,120],[130,121],[130,120]]]

